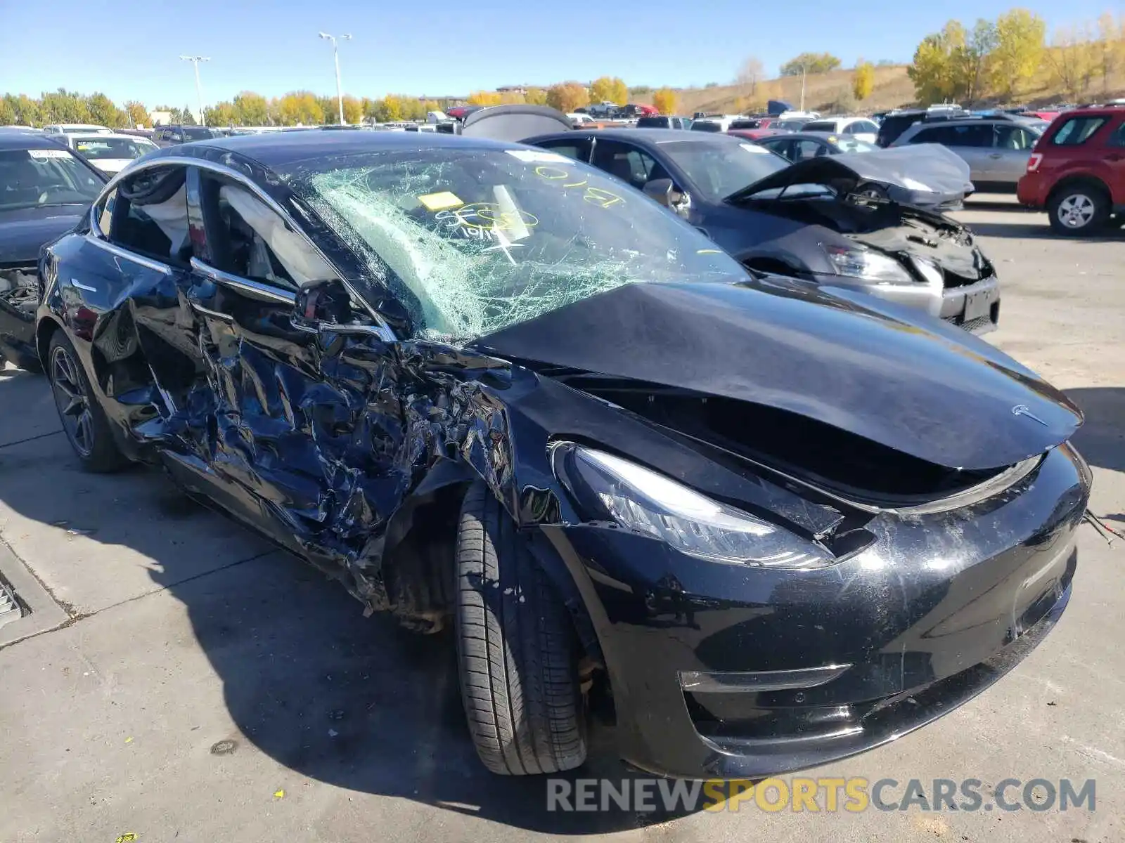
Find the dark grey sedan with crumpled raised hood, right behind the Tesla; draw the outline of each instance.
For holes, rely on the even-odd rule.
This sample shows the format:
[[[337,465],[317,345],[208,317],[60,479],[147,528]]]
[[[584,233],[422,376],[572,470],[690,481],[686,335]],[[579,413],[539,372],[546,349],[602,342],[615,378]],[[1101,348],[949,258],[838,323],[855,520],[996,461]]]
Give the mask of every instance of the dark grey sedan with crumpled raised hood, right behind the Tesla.
[[[510,137],[629,182],[752,269],[868,292],[978,334],[1000,318],[992,264],[972,233],[944,214],[973,190],[969,166],[944,146],[790,164],[719,134],[578,129]]]

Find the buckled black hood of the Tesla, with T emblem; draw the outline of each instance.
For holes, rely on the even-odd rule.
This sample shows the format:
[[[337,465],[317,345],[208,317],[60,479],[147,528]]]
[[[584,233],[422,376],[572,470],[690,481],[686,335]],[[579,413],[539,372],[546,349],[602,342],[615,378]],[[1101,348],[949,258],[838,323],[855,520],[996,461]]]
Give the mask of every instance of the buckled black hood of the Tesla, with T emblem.
[[[958,328],[776,277],[627,284],[476,346],[784,410],[953,470],[1012,465],[1082,422],[1065,396]]]

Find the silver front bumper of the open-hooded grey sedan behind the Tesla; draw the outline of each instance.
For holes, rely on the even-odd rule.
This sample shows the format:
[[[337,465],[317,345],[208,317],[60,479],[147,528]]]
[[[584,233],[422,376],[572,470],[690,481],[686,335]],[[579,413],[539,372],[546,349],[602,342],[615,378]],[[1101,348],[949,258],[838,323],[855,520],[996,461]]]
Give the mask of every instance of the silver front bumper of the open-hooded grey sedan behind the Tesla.
[[[939,287],[924,282],[901,284],[852,283],[839,275],[818,275],[817,281],[925,310],[930,316],[973,334],[996,329],[1000,320],[1000,282],[989,275],[972,284]]]

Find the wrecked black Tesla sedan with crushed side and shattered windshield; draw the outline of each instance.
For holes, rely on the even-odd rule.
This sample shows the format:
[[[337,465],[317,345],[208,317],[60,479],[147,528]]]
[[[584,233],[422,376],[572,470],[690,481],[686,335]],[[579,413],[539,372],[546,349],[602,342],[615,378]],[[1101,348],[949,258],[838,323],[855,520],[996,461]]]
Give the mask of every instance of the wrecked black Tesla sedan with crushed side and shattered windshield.
[[[955,327],[750,275],[597,170],[392,133],[138,161],[39,263],[90,470],[162,466],[456,631],[497,773],[739,778],[891,741],[1070,596],[1081,414]]]

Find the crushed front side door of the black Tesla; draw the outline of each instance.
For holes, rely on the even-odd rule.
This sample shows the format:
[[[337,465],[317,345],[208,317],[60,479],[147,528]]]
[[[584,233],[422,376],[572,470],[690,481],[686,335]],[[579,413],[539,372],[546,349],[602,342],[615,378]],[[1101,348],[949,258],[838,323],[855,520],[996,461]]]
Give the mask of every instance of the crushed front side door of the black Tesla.
[[[252,184],[201,166],[188,202],[208,388],[189,414],[202,465],[184,468],[205,468],[224,508],[372,600],[356,560],[410,483],[396,468],[393,337],[352,325],[358,302],[335,269]],[[336,294],[310,292],[323,289]]]

